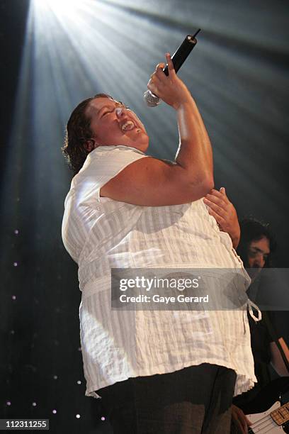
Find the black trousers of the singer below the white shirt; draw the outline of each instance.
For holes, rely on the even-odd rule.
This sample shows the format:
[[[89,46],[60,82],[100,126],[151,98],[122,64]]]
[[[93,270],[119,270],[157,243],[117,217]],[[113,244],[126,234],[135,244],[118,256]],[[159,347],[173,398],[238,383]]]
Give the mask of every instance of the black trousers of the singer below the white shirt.
[[[204,363],[99,389],[114,434],[227,434],[236,373]]]

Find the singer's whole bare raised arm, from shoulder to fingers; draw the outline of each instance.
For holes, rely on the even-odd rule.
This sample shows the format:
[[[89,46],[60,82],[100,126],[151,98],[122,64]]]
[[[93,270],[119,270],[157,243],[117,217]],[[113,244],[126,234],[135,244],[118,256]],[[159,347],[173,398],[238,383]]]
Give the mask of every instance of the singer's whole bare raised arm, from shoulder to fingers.
[[[212,148],[193,97],[177,77],[166,55],[169,76],[157,65],[148,89],[176,111],[179,150],[175,163],[142,158],[123,169],[101,188],[101,196],[142,206],[186,204],[213,188]]]

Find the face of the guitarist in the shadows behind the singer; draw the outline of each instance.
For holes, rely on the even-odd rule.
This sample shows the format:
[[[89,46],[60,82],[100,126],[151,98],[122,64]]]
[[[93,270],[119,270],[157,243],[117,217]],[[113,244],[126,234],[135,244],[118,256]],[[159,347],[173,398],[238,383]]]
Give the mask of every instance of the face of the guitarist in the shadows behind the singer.
[[[248,248],[249,274],[256,277],[264,267],[266,259],[270,254],[270,243],[268,238],[263,237],[261,240],[253,240]]]

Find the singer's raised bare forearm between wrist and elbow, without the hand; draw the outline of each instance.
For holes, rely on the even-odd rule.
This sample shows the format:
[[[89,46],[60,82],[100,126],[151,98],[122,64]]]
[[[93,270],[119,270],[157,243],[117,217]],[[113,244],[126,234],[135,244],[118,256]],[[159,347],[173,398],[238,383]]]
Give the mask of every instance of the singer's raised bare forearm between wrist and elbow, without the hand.
[[[191,182],[205,181],[213,187],[212,146],[192,97],[179,105],[176,115],[180,138],[176,162],[186,170]]]

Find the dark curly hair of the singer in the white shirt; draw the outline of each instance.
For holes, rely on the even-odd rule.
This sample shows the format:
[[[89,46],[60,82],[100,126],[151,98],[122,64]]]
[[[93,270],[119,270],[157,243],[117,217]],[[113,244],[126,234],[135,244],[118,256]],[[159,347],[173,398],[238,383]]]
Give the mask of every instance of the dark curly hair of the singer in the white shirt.
[[[86,109],[89,103],[96,98],[113,99],[113,97],[108,94],[96,94],[95,96],[91,96],[91,98],[84,99],[84,101],[81,101],[74,111],[72,111],[67,122],[64,145],[61,150],[70,169],[74,171],[74,174],[79,172],[89,154],[89,151],[84,148],[84,143],[93,137],[93,132],[90,126],[91,117],[86,114]]]

